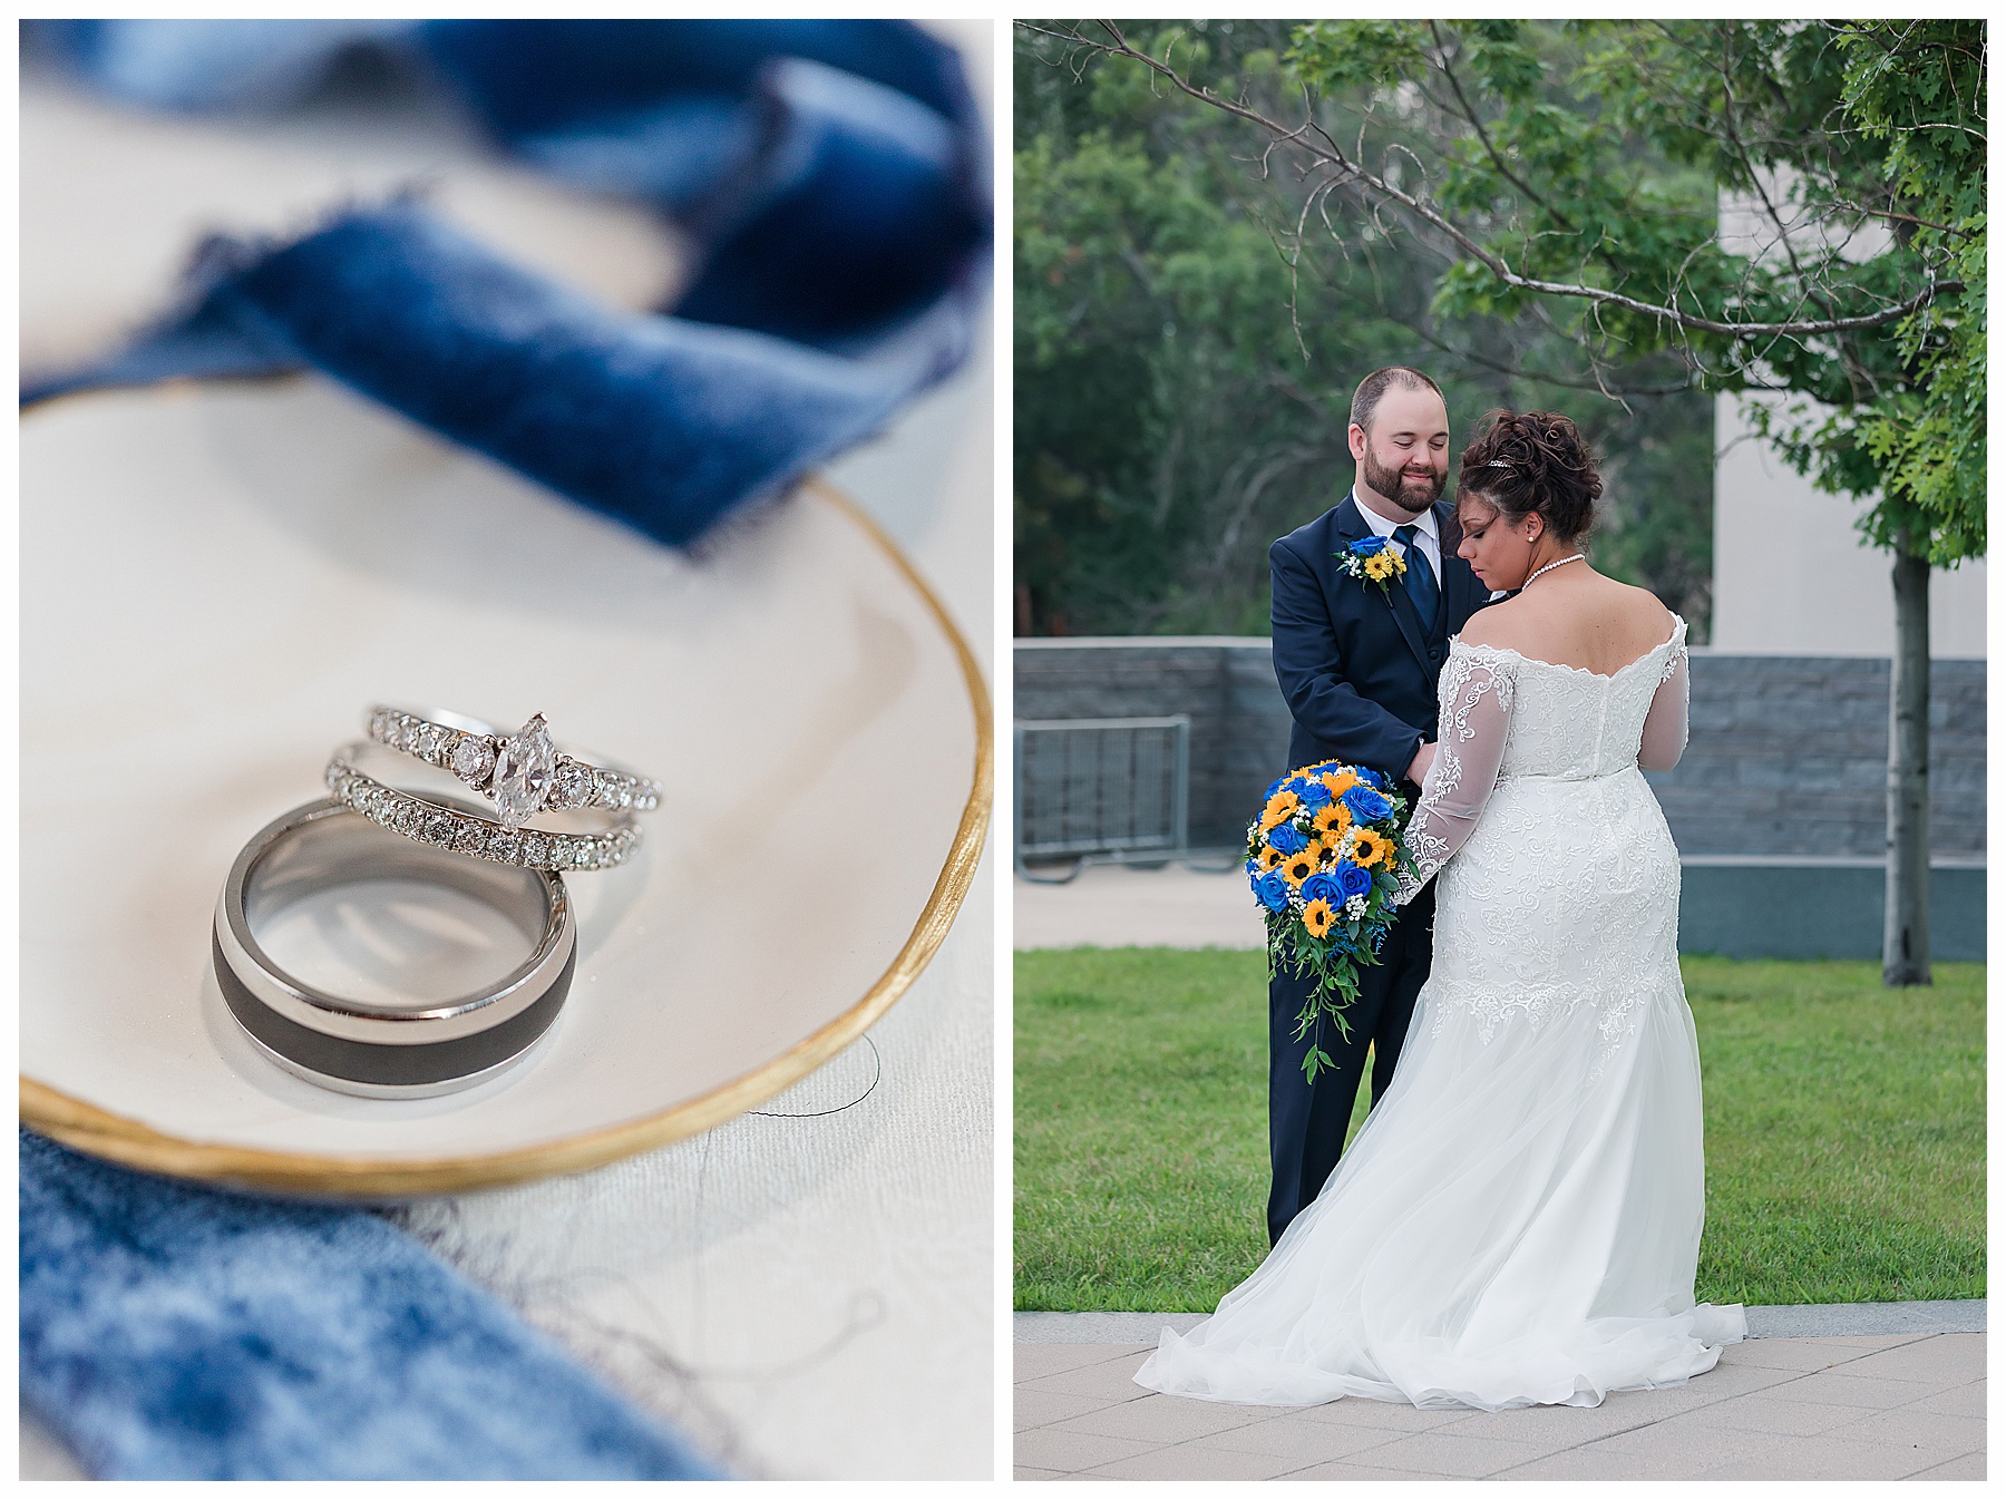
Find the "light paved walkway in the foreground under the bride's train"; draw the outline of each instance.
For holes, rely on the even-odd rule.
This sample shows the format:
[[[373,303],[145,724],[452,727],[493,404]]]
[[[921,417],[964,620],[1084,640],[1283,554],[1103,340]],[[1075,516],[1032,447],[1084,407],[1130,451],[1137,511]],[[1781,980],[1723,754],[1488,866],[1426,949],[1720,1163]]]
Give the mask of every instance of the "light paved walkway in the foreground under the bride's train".
[[[1982,1480],[1984,1307],[1749,1307],[1685,1386],[1519,1412],[1159,1396],[1149,1330],[1196,1316],[1017,1314],[1017,1478]]]

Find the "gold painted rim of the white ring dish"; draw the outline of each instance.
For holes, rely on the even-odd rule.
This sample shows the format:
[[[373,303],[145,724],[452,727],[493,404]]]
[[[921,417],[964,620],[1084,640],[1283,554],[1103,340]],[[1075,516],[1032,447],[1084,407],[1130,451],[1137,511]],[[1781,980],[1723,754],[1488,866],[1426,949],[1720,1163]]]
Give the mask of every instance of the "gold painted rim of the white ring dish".
[[[933,892],[927,896],[919,920],[913,922],[905,947],[899,949],[891,967],[879,975],[877,983],[849,1011],[820,1031],[802,1037],[778,1057],[696,1099],[686,1099],[656,1115],[644,1115],[620,1125],[606,1125],[596,1131],[546,1141],[544,1145],[489,1155],[441,1157],[435,1161],[315,1157],[295,1151],[259,1151],[241,1145],[185,1141],[142,1125],[136,1119],[126,1119],[124,1115],[84,1103],[38,1079],[30,1079],[26,1073],[20,1075],[22,1123],[86,1155],[169,1177],[197,1177],[213,1183],[321,1197],[413,1197],[556,1177],[604,1167],[608,1161],[618,1161],[640,1151],[652,1151],[654,1147],[708,1131],[712,1125],[722,1125],[766,1103],[857,1041],[919,979],[919,973],[947,939],[947,928],[955,924],[955,914],[961,910],[969,884],[975,880],[975,866],[981,862],[983,844],[989,836],[989,810],[995,802],[995,722],[989,708],[989,688],[983,682],[983,670],[975,654],[969,650],[967,640],[939,596],[921,578],[899,543],[857,501],[826,479],[802,479],[800,489],[849,517],[891,557],[893,566],[905,576],[941,626],[941,634],[955,648],[955,660],[961,664],[961,680],[969,692],[969,706],[975,710],[975,774],[969,782],[969,798],[961,808],[961,824],[955,828],[955,842],[947,850],[947,862],[941,866],[941,874],[933,882]]]

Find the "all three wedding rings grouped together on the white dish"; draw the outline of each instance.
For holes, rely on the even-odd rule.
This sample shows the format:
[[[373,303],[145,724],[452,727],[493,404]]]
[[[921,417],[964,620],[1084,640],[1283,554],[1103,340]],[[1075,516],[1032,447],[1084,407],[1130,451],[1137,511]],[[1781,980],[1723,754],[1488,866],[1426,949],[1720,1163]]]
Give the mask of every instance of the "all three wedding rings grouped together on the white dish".
[[[508,734],[379,706],[367,736],[329,758],[327,798],[267,824],[237,856],[217,902],[217,983],[251,1041],[309,1083],[389,1099],[453,1093],[522,1061],[558,1019],[578,947],[564,872],[624,864],[640,844],[634,814],[656,808],[662,786],[560,750],[542,714]],[[427,776],[439,786],[419,786]],[[540,814],[572,826],[524,826]],[[471,898],[528,955],[471,993],[389,1003],[333,995],[259,941],[287,908],[365,882]]]

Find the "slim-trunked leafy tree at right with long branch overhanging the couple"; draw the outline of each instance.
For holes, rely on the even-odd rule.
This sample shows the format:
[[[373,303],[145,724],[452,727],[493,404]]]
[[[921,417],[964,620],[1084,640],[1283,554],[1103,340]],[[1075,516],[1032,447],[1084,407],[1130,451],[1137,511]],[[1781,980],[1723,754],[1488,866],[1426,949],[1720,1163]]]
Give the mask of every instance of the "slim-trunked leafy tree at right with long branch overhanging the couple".
[[[1896,557],[1884,981],[1928,983],[1928,572],[1986,531],[1984,22],[1571,22],[1563,66],[1533,22],[1310,22],[1288,116],[1115,22],[1053,32],[1258,128],[1312,205],[1454,245],[1442,313],[1549,319],[1597,377],[1669,353],[1705,389],[1783,393],[1761,429],[1872,497]],[[1751,243],[1719,233],[1723,193]]]

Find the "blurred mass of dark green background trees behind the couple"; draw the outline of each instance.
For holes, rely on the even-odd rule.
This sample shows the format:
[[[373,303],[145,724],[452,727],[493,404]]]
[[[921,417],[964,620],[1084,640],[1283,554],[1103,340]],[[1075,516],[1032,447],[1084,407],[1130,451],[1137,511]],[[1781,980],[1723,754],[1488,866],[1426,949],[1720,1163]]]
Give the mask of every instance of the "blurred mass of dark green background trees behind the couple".
[[[1268,106],[1298,96],[1290,24],[1137,26]],[[1264,632],[1268,541],[1342,499],[1366,369],[1428,369],[1458,425],[1581,407],[1569,333],[1436,311],[1452,247],[1384,233],[1368,205],[1320,205],[1344,253],[1318,255],[1292,239],[1308,184],[1248,170],[1256,126],[1133,68],[1063,62],[1019,30],[1019,634]],[[1607,457],[1597,557],[1703,640],[1711,399],[1665,355],[1603,379],[1627,405],[1579,413]]]

